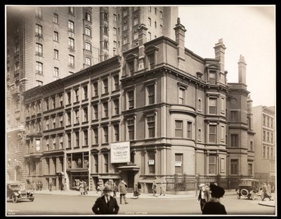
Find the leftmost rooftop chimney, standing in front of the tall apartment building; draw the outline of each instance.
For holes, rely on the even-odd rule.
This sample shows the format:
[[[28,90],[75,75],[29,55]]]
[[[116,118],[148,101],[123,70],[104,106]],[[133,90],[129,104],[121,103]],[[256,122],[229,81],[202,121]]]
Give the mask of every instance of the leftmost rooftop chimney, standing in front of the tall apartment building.
[[[138,70],[145,68],[145,46],[146,43],[146,31],[148,28],[144,24],[138,25]]]

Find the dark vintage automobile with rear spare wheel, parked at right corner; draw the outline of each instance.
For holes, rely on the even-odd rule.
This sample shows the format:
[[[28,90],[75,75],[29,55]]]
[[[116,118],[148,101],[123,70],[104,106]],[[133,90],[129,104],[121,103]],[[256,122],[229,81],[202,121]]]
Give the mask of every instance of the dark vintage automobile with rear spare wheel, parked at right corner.
[[[259,193],[259,180],[244,178],[239,180],[237,188],[237,199],[245,197],[254,200],[256,194]]]

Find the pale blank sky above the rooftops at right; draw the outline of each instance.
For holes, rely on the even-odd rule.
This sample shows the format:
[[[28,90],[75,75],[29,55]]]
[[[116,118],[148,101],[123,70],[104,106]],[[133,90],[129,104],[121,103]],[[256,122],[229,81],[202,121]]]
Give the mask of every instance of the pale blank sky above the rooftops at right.
[[[253,107],[275,105],[275,6],[179,6],[178,14],[187,30],[186,48],[202,58],[215,58],[214,45],[223,39],[228,83],[238,82],[241,54]]]

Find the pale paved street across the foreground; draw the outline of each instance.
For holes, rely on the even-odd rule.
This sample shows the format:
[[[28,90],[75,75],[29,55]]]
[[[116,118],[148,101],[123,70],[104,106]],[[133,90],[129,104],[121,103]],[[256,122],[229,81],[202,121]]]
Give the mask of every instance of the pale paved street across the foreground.
[[[8,201],[7,215],[93,215],[91,208],[96,197],[37,194],[34,201],[16,204]],[[119,204],[119,215],[200,215],[197,198],[185,199],[127,199],[129,204]],[[238,200],[235,195],[225,195],[221,204],[232,215],[274,215],[275,208],[259,205],[259,199]],[[124,203],[124,202],[123,202]]]

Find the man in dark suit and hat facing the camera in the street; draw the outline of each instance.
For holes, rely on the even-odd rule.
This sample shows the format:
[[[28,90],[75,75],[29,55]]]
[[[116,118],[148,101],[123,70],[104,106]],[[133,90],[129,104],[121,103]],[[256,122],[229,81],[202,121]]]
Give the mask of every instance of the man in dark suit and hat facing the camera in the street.
[[[107,185],[103,189],[104,195],[96,199],[95,204],[92,207],[93,213],[96,214],[117,214],[119,211],[119,206],[115,197],[110,196],[112,188]]]

